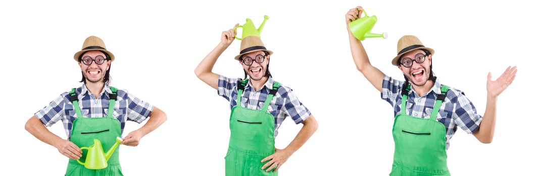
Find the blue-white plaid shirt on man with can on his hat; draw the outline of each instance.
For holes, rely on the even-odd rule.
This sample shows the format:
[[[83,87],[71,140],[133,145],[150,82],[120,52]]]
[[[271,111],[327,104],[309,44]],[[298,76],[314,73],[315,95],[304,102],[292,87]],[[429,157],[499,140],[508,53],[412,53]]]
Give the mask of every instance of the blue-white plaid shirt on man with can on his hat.
[[[230,108],[237,105],[237,81],[242,81],[242,79],[226,78],[222,75],[218,77],[218,95],[230,102]],[[260,110],[267,99],[267,95],[269,95],[269,90],[273,89],[273,82],[273,79],[270,77],[261,89],[254,91],[249,80],[249,84],[245,86],[241,97],[241,106],[248,109]],[[292,117],[295,124],[300,124],[303,120],[310,117],[311,114],[305,105],[295,96],[293,90],[285,86],[280,86],[277,94],[273,96],[267,112],[274,116],[275,137],[278,134],[278,128],[286,117]]]

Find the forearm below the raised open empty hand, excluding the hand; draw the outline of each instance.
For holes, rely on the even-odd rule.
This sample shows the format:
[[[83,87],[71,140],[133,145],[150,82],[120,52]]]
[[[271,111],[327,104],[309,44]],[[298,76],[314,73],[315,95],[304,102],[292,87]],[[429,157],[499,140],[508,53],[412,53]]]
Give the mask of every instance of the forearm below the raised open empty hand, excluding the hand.
[[[480,127],[476,132],[477,139],[482,143],[491,143],[495,132],[495,119],[497,118],[497,97],[487,97],[486,111],[480,121]]]

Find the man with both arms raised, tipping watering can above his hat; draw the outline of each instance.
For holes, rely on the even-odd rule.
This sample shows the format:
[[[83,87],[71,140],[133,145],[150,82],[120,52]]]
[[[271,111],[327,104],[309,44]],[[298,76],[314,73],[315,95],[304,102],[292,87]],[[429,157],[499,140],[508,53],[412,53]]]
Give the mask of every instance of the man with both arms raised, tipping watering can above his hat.
[[[345,15],[346,23],[359,19],[362,7]],[[490,143],[495,129],[497,97],[514,80],[516,67],[508,67],[497,79],[487,76],[487,103],[484,116],[462,91],[442,85],[431,70],[434,50],[424,47],[412,35],[398,41],[392,64],[404,74],[405,82],[394,80],[370,64],[362,43],[348,27],[351,54],[357,70],[381,92],[394,110],[394,162],[390,175],[450,175],[447,167],[449,140],[456,126],[472,133],[482,143]]]

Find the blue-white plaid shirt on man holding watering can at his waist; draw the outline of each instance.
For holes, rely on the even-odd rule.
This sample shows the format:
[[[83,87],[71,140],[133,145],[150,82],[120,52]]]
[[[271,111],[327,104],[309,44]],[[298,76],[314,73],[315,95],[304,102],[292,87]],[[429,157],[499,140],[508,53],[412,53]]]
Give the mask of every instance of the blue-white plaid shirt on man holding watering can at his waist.
[[[79,96],[80,111],[83,117],[107,117],[109,105],[108,94],[112,93],[109,86],[105,85],[99,96],[91,94],[84,84],[82,84],[82,87],[76,89],[76,93]],[[141,101],[137,97],[127,93],[126,90],[118,90],[117,94],[112,117],[119,120],[123,133],[126,120],[142,123],[150,115],[153,105]],[[52,126],[58,120],[62,120],[63,129],[65,129],[67,137],[70,139],[73,121],[78,117],[76,117],[73,103],[69,101],[69,97],[67,92],[61,94],[56,100],[45,106],[45,108],[36,112],[35,115],[47,127]]]

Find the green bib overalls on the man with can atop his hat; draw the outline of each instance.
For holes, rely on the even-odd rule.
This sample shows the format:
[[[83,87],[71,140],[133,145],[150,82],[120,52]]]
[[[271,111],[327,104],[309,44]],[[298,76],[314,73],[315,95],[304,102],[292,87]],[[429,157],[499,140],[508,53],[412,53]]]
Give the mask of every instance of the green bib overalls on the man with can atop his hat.
[[[278,175],[273,170],[265,172],[261,160],[274,153],[274,117],[267,107],[277,93],[280,83],[274,82],[273,89],[260,110],[241,107],[241,95],[248,79],[237,85],[237,105],[230,115],[230,144],[226,160],[226,176],[233,175]],[[267,168],[266,168],[267,169]]]

